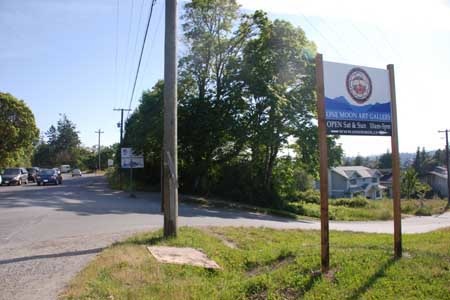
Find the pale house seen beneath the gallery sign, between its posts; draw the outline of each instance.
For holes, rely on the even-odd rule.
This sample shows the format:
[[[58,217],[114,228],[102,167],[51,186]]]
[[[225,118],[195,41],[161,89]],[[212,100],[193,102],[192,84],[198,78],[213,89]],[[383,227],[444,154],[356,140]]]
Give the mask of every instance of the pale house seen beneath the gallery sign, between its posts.
[[[329,196],[364,196],[380,199],[386,187],[380,185],[383,174],[375,169],[363,166],[335,167],[328,171]]]

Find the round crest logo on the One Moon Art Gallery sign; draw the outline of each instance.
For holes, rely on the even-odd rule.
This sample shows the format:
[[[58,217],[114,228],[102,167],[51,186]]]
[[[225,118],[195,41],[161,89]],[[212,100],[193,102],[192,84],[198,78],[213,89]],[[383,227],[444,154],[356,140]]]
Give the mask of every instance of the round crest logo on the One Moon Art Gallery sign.
[[[372,80],[361,68],[353,68],[347,74],[347,91],[358,104],[365,103],[372,95]]]

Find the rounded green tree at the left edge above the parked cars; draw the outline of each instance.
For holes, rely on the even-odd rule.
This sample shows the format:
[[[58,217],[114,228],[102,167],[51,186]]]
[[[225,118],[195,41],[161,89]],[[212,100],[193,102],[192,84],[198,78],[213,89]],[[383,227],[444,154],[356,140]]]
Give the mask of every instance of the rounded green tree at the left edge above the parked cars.
[[[39,130],[24,101],[0,92],[0,169],[30,163]]]

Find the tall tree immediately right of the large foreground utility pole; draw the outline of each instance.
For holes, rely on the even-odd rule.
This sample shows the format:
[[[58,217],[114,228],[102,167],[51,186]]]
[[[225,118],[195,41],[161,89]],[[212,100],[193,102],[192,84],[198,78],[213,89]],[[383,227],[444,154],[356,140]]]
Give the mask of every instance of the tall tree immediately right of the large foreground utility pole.
[[[239,26],[234,0],[194,0],[185,4],[183,33],[187,53],[180,60],[180,156],[185,187],[209,190],[212,169],[243,145],[236,69],[249,34]],[[190,181],[190,182],[189,182]]]

